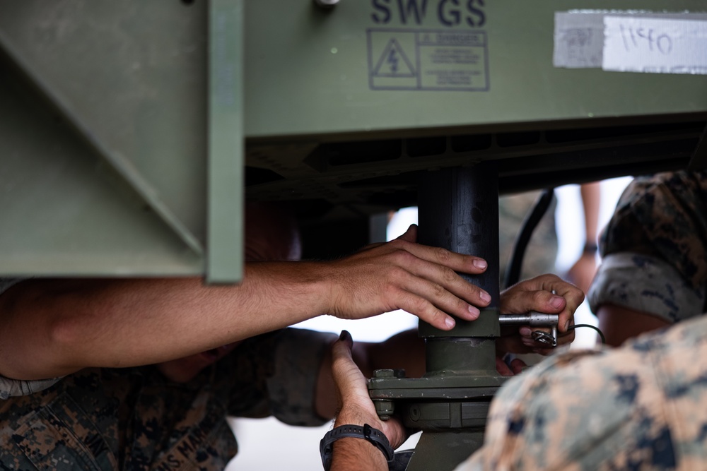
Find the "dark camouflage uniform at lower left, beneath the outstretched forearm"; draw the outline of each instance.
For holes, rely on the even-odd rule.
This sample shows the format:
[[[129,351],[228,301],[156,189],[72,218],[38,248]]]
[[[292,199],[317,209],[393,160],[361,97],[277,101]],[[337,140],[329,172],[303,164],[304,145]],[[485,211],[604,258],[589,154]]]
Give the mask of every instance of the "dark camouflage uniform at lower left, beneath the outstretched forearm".
[[[314,392],[334,338],[284,329],[245,340],[188,383],[156,366],[91,368],[0,400],[0,470],[222,470],[237,451],[228,416],[326,422]]]

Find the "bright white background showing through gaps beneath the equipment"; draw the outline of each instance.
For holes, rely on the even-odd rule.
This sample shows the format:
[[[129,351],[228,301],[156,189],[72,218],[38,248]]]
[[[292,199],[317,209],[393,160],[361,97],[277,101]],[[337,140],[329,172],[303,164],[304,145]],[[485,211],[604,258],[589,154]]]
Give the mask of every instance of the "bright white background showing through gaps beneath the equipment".
[[[602,181],[602,201],[600,205],[599,227],[606,225],[614,212],[621,192],[631,181],[631,177],[621,177]],[[584,219],[578,185],[561,186],[555,191],[557,197],[556,227],[558,254],[556,273],[563,273],[572,266],[584,246]],[[402,234],[407,227],[417,222],[416,208],[405,208],[393,217],[388,226],[388,239]],[[377,316],[359,321],[344,321],[332,316],[320,316],[298,324],[298,327],[340,333],[349,330],[354,341],[378,342],[401,330],[417,326],[416,317],[403,311]],[[575,313],[575,323],[597,324],[585,302]],[[595,332],[589,328],[579,328],[573,347],[587,347],[595,342]],[[290,427],[274,418],[238,419],[234,421],[238,438],[238,455],[227,471],[250,470],[290,470],[310,471],[322,469],[319,455],[319,441],[331,428]],[[406,448],[414,446],[414,440]]]

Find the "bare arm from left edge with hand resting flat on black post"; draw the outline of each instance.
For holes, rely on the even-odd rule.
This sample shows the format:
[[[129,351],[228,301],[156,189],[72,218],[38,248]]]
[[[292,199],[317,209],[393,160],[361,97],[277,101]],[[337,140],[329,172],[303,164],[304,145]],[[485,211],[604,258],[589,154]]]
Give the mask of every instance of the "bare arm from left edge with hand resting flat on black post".
[[[416,230],[328,263],[248,263],[241,285],[201,280],[37,280],[0,296],[0,374],[18,379],[86,366],[163,362],[320,314],[366,318],[405,309],[449,330],[472,321],[488,293],[455,272],[474,256],[414,243]],[[450,315],[451,314],[451,315]]]

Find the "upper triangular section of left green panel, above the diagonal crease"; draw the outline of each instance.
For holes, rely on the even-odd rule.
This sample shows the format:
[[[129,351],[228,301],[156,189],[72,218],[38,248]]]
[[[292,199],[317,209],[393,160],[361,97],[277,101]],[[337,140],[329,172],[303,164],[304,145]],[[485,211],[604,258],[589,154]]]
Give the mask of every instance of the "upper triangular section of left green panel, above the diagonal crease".
[[[6,0],[0,32],[4,49],[42,93],[201,251],[205,5]]]

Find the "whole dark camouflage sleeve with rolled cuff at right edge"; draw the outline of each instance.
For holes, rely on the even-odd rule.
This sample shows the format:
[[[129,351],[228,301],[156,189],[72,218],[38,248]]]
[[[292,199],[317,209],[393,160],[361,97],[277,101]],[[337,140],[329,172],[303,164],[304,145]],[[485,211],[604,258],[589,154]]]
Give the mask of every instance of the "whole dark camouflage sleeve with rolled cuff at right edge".
[[[707,172],[635,179],[601,242],[592,311],[615,304],[670,323],[706,311]]]

